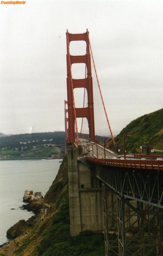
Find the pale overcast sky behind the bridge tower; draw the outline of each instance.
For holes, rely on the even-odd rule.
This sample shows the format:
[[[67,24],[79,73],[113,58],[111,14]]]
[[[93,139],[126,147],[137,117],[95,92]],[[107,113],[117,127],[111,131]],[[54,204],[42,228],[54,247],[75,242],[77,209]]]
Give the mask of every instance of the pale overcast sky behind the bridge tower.
[[[113,134],[163,107],[162,1],[0,4],[0,132],[65,129],[66,30],[87,28]]]

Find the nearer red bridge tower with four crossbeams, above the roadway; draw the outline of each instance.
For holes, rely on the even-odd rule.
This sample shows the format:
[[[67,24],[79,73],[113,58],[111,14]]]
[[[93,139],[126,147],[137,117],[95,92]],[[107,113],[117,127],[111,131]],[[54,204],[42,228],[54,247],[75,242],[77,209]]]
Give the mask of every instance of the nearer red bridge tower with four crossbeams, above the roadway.
[[[95,141],[95,124],[94,124],[94,102],[93,102],[93,83],[91,74],[91,55],[90,55],[90,43],[89,32],[83,34],[70,34],[66,33],[67,37],[67,106],[68,106],[68,118],[65,118],[65,127],[67,130],[67,143],[75,142],[75,128],[78,141],[78,128],[77,118],[86,117],[88,121],[89,137],[91,141]],[[85,55],[70,55],[69,44],[71,41],[85,41],[86,42],[86,54]],[[87,68],[87,77],[84,79],[73,79],[71,72],[71,65],[74,63],[85,63]],[[76,108],[74,101],[74,88],[85,88],[88,96],[88,106],[83,108]]]

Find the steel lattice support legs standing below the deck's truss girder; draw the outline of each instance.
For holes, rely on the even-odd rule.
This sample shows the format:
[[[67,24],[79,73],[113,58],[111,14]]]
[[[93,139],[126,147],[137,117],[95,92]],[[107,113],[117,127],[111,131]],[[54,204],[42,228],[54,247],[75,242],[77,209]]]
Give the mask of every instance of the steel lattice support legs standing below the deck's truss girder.
[[[107,191],[104,183],[103,187]],[[115,221],[114,229],[116,230],[114,232],[111,232],[108,228],[111,212],[109,213],[108,210],[105,210],[106,215],[104,215],[104,218],[107,220],[107,228],[105,228],[105,255],[161,256],[163,238],[160,214],[163,210],[141,202],[130,202],[129,199],[118,195],[116,198],[117,222]],[[108,198],[106,199],[105,193],[105,202],[107,201]],[[106,209],[106,205],[107,203],[104,209]],[[114,238],[113,240],[111,240],[111,236]]]

